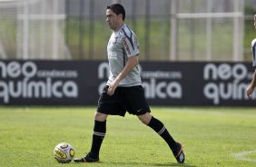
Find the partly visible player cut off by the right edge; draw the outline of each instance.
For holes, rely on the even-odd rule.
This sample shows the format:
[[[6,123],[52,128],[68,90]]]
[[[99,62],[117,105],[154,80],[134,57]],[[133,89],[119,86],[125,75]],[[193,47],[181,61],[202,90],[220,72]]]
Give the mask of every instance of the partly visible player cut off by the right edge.
[[[254,28],[256,29],[256,13],[254,14]],[[251,42],[251,52],[252,52],[252,66],[256,66],[256,38]],[[256,86],[256,69],[253,74],[253,78],[251,80],[250,85],[247,87],[246,93],[247,96],[251,99],[252,93],[254,92],[254,88]]]

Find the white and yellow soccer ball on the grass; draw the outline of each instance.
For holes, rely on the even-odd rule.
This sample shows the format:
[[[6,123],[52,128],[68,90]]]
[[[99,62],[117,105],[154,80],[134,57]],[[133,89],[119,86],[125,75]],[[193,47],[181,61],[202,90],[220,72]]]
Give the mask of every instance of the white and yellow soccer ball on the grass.
[[[71,162],[74,159],[74,148],[67,142],[59,143],[54,148],[54,158],[60,163]]]

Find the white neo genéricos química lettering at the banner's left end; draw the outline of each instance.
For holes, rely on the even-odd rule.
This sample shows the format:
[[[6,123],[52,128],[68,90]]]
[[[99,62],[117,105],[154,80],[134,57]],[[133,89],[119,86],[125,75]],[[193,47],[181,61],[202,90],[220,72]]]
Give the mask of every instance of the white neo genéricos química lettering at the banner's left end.
[[[0,61],[0,100],[10,103],[11,98],[76,98],[76,77],[76,71],[40,70],[32,61]]]

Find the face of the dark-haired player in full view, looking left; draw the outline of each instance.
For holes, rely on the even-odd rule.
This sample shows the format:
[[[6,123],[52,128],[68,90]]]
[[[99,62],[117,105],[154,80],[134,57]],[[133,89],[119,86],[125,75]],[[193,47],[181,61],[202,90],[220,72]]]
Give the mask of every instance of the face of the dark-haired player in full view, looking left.
[[[118,30],[120,26],[120,15],[116,15],[113,13],[111,9],[106,10],[106,24],[113,31]]]

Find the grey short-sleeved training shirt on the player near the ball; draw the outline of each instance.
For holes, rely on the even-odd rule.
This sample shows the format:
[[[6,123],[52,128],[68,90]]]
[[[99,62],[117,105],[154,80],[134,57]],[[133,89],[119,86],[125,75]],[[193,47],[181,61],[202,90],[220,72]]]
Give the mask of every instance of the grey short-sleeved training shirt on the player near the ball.
[[[110,67],[110,75],[107,85],[112,83],[117,75],[123,71],[129,57],[138,56],[139,54],[139,43],[133,30],[124,24],[120,30],[113,32],[107,45],[107,55]],[[119,83],[119,86],[123,87],[136,85],[142,85],[138,65],[136,65]]]

